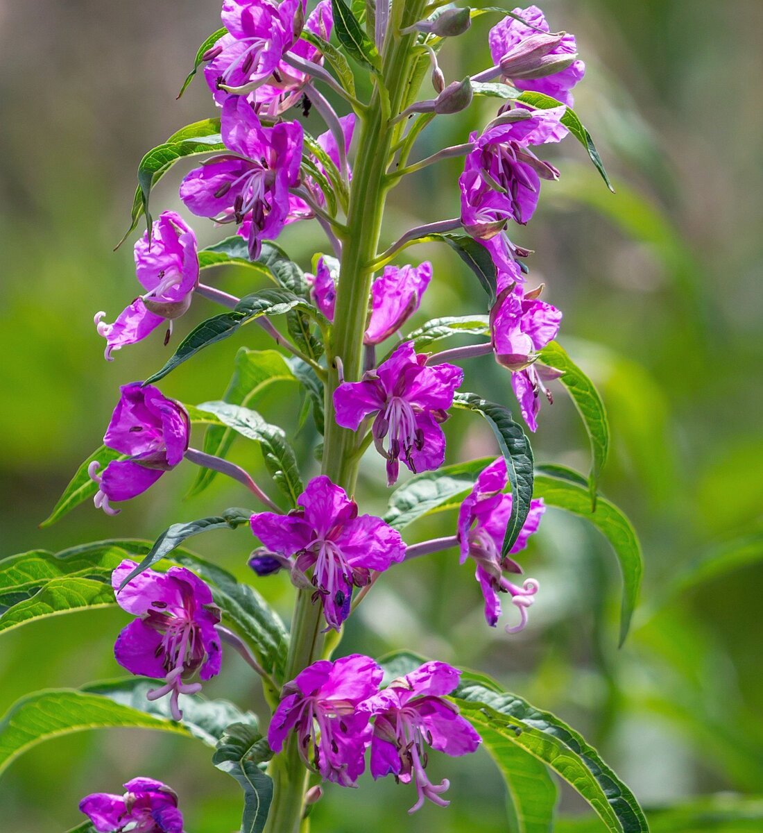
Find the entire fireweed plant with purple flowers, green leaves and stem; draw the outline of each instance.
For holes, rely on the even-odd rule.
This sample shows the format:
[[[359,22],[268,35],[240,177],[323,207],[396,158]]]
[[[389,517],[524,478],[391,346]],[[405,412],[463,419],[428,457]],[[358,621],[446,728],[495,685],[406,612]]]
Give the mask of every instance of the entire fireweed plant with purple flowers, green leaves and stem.
[[[450,38],[470,37],[473,17],[483,13],[498,17],[489,33],[491,66],[448,82],[438,54]],[[548,506],[587,517],[610,539],[624,576],[626,635],[641,561],[627,519],[597,498],[606,415],[592,383],[555,341],[562,312],[542,300],[531,252],[514,241],[542,189],[560,176],[545,161],[547,145],[572,134],[608,185],[572,110],[584,73],[575,38],[552,31],[538,7],[502,12],[424,0],[321,0],[311,9],[305,0],[225,0],[221,22],[183,85],[202,69],[213,115],[176,132],[139,168],[131,231],[145,216],[135,243],[145,292],[113,322],[106,312],[95,321],[107,360],[118,361],[116,352],[141,339],[161,350],[161,336],[169,341],[191,305],[221,309],[186,334],[159,372],[121,387],[104,446],[82,464],[46,523],[87,499],[116,514],[143,491],[172,488],[171,471],[189,464],[201,466],[197,491],[222,473],[257,505],[173,524],[153,545],[99,541],[3,562],[5,590],[15,595],[0,630],[115,601],[134,617],[115,634],[116,661],[133,676],[20,701],[0,729],[4,761],[44,737],[94,726],[181,732],[216,746],[215,765],[239,781],[244,831],[296,833],[307,829],[325,790],[357,786],[366,769],[409,791],[410,812],[426,801],[447,806],[448,781],[430,779],[430,758],[470,755],[482,745],[507,777],[513,829],[550,829],[556,773],[608,830],[646,831],[627,786],[555,716],[442,661],[341,651],[344,622],[384,572],[435,551],[474,569],[486,626],[500,623],[508,635],[531,626],[528,613],[543,605],[543,588],[523,576],[523,550]],[[409,161],[431,122],[477,97],[495,104],[487,123],[475,123],[463,143]],[[311,110],[310,124],[325,125],[315,138],[297,118]],[[153,219],[151,188],[183,157],[199,158],[180,185],[185,210]],[[453,157],[463,157],[453,182],[458,217],[431,217],[382,242],[394,187]],[[209,221],[226,236],[200,249],[193,225]],[[310,273],[274,242],[295,222],[317,222],[325,232],[325,251],[315,253]],[[473,270],[473,312],[407,332],[429,287],[447,280],[428,262],[404,262],[421,242],[444,243]],[[206,269],[226,264],[249,267],[258,285],[270,284],[233,297],[204,279]],[[274,349],[242,348],[224,399],[191,407],[156,387],[250,322],[273,338]],[[475,341],[431,349],[459,336]],[[513,388],[505,402],[463,390],[461,366],[483,355],[505,368]],[[301,419],[311,409],[323,435],[315,450],[320,473],[315,464],[305,482],[285,431],[253,410],[260,392],[283,379],[300,385]],[[587,477],[533,464],[526,431],[538,429],[543,404],[562,387],[590,437]],[[488,422],[493,456],[443,467],[454,408]],[[196,448],[191,430],[199,424],[207,427]],[[235,435],[260,446],[271,482],[256,483],[226,459]],[[364,513],[354,497],[366,452],[384,459],[378,490],[394,490],[384,517]],[[443,537],[406,542],[409,524],[446,508],[455,512],[443,516]],[[253,539],[249,582],[181,546],[202,531],[236,526]],[[255,589],[278,572],[295,587],[288,630]],[[262,680],[272,717],[261,731],[250,713],[200,693],[211,677],[225,675],[229,650]],[[136,776],[124,790],[84,798],[89,821],[78,830],[181,833],[182,801],[169,786]]]

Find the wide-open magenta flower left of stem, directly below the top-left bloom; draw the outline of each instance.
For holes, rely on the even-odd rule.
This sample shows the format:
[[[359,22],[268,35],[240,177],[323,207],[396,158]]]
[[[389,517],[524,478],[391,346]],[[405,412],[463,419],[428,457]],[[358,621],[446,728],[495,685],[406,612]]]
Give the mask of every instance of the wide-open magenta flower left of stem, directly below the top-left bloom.
[[[289,214],[289,189],[300,181],[302,126],[262,127],[245,98],[230,96],[221,116],[222,140],[231,152],[212,157],[181,183],[181,200],[199,217],[248,223],[250,257],[275,239]]]

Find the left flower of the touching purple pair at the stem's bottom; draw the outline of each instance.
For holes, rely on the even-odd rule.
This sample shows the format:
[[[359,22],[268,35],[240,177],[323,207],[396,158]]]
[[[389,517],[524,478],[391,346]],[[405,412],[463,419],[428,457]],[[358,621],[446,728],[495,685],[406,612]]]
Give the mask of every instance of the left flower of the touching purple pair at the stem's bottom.
[[[382,670],[361,654],[330,662],[320,660],[284,686],[268,743],[280,752],[291,731],[305,765],[341,786],[356,786],[365,769],[371,740],[369,711],[358,705],[379,691]]]

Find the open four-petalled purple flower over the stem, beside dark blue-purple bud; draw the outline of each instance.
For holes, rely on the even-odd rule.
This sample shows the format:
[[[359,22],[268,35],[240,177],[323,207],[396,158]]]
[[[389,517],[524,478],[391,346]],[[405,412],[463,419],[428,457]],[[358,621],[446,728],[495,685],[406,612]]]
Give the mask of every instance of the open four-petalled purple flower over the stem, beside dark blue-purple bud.
[[[295,556],[298,573],[313,567],[313,601],[320,599],[326,623],[339,631],[349,616],[354,587],[369,584],[371,570],[384,571],[403,561],[405,545],[381,519],[359,516],[357,503],[326,476],[314,477],[299,502],[303,508],[288,515],[253,515],[251,528],[275,556]]]

